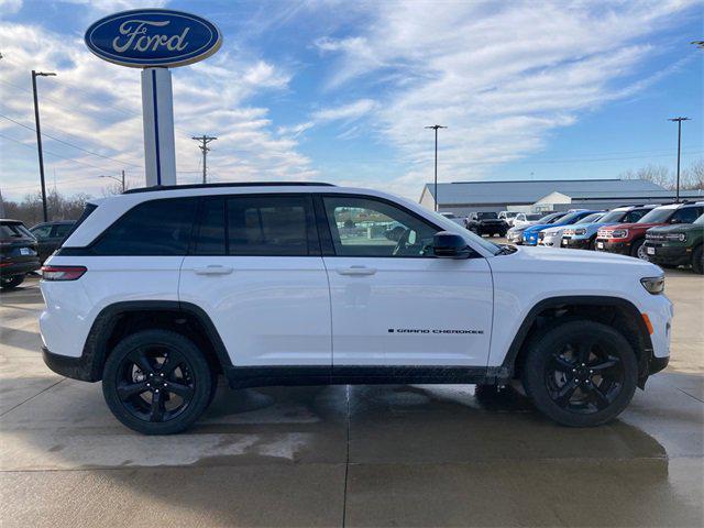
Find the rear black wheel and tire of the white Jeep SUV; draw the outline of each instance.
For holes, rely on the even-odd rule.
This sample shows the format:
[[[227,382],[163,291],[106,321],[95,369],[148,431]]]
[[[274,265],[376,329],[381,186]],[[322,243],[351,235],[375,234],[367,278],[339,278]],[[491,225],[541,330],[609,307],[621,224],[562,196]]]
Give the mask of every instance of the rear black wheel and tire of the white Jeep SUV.
[[[112,350],[102,394],[114,417],[130,429],[172,435],[205,413],[215,384],[208,361],[190,340],[168,330],[145,330]]]

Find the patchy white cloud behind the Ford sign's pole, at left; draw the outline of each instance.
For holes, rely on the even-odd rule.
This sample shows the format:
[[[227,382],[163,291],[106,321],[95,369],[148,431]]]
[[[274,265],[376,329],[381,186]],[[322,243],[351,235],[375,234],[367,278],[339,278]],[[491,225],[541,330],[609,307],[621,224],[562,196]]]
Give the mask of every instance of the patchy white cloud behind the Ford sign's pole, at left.
[[[144,183],[140,72],[111,65],[88,52],[78,36],[45,29],[0,23],[0,113],[34,124],[29,70],[56,72],[37,79],[42,131],[103,156],[45,139],[45,166],[65,193],[100,195],[105,179],[127,168],[133,186]],[[261,59],[244,59],[221,50],[208,61],[174,68],[177,170],[182,183],[197,182],[200,151],[190,140],[217,135],[208,158],[212,180],[306,179],[315,176],[310,161],[297,152],[295,138],[273,132],[268,110],[248,100],[262,90],[286,90],[290,75]],[[34,145],[34,132],[0,119],[0,133]],[[6,197],[32,191],[35,156],[29,148],[0,139]],[[62,160],[55,153],[76,160]],[[123,163],[122,163],[123,162]],[[84,179],[81,179],[81,177]]]

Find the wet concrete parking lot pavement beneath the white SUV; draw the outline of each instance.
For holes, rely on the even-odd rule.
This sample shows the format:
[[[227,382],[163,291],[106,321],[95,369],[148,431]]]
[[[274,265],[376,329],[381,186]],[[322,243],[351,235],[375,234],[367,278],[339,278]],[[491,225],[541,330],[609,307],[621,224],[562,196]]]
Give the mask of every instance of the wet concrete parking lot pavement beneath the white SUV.
[[[667,289],[671,365],[607,426],[472,386],[221,386],[143,437],[44,366],[31,279],[0,296],[2,526],[702,526],[704,278]]]

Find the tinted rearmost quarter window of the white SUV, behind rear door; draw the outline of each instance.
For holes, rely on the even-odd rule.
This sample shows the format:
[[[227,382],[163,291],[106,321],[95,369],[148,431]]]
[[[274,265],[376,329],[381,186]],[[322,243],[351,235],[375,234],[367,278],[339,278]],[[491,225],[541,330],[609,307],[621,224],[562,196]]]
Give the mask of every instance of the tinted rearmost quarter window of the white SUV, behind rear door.
[[[125,212],[92,246],[98,255],[185,255],[197,198],[151,200]]]

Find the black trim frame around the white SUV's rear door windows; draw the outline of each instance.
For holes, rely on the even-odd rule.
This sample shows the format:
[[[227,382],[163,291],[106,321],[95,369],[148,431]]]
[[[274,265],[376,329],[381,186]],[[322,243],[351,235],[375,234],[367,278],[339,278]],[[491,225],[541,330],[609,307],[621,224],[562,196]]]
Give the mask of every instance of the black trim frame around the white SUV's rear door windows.
[[[292,255],[292,254],[278,254],[278,253],[270,253],[270,254],[261,254],[261,253],[238,253],[237,255],[230,254],[230,232],[229,232],[229,206],[228,202],[232,198],[271,198],[271,197],[279,197],[279,198],[302,198],[304,202],[304,212],[306,215],[306,241],[308,242],[308,254],[306,255]],[[205,202],[206,200],[217,200],[222,199],[224,202],[223,208],[223,230],[224,230],[224,253],[220,254],[199,254],[196,252],[197,241],[200,237],[200,229],[202,227],[202,219],[205,213]],[[257,257],[293,257],[293,258],[306,258],[310,256],[321,256],[320,251],[320,237],[318,232],[318,226],[316,222],[316,213],[314,210],[314,201],[312,195],[309,193],[243,193],[243,194],[233,194],[233,195],[208,195],[200,197],[200,202],[198,207],[198,211],[196,215],[196,221],[194,222],[194,229],[191,233],[191,241],[188,246],[188,256],[219,256],[219,257],[239,257],[239,256],[257,256]]]

